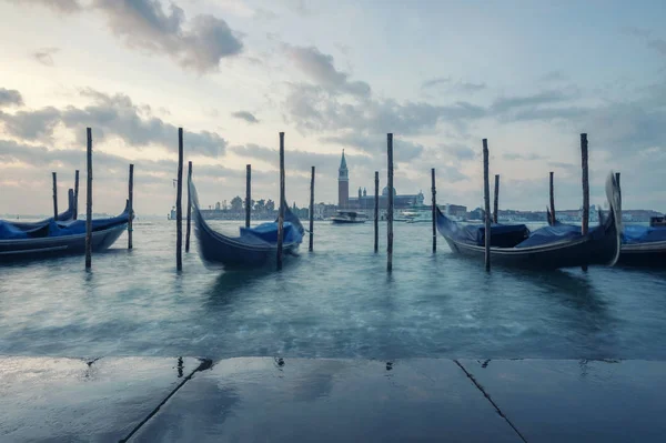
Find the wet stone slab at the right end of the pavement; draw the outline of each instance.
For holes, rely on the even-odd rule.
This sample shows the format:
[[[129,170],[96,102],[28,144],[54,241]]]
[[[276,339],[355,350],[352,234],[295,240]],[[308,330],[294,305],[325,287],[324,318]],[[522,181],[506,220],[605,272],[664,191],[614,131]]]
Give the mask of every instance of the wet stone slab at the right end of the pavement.
[[[529,443],[666,439],[666,362],[460,363]]]

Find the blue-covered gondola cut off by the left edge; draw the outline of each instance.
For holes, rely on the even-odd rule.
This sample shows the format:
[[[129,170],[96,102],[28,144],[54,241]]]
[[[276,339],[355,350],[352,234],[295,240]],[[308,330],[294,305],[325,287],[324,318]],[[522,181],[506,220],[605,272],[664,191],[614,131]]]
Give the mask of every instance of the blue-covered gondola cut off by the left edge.
[[[109,249],[127,229],[129,202],[113,218],[92,221],[92,251]],[[60,217],[59,217],[60,219]],[[0,220],[0,262],[46,259],[85,252],[85,220],[11,223]]]

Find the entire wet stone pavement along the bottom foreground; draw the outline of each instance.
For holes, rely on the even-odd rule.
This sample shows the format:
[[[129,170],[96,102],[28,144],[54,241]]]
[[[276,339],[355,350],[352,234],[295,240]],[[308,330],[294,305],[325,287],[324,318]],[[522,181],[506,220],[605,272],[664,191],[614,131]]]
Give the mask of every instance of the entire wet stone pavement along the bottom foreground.
[[[0,441],[626,442],[666,363],[0,358]]]

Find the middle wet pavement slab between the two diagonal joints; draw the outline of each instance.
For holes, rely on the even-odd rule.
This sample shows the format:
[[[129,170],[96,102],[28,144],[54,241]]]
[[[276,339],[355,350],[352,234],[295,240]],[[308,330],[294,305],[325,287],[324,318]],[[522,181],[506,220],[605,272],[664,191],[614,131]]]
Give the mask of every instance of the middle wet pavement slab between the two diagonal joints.
[[[451,360],[230,359],[131,442],[521,442]]]

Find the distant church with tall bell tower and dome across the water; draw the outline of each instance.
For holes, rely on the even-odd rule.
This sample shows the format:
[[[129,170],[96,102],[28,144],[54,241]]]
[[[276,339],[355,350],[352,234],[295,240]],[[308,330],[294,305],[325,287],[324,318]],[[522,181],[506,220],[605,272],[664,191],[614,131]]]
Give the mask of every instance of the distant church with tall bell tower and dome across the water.
[[[357,209],[372,210],[374,209],[374,195],[367,195],[365,188],[359,188],[359,197],[350,198],[350,171],[342,151],[342,160],[337,170],[337,207],[339,209]],[[423,205],[425,198],[423,192],[417,194],[398,195],[393,188],[393,208],[407,209]],[[389,208],[389,187],[384,187],[380,195],[380,209]]]

